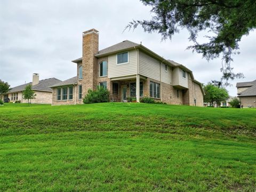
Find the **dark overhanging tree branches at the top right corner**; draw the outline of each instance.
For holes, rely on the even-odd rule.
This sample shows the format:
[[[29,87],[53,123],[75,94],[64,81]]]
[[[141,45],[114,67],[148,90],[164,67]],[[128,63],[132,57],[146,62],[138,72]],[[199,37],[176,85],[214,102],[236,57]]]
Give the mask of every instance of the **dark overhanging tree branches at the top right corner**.
[[[218,58],[222,54],[221,82],[243,77],[235,74],[230,66],[232,54],[239,53],[238,42],[243,35],[248,35],[256,27],[255,0],[141,0],[151,6],[154,15],[151,20],[133,20],[125,29],[137,28],[138,25],[148,32],[157,31],[162,39],[179,33],[180,28],[189,31],[188,47],[193,52],[201,53],[207,60]],[[207,31],[207,43],[198,43],[200,31]],[[212,34],[212,35],[211,35]]]

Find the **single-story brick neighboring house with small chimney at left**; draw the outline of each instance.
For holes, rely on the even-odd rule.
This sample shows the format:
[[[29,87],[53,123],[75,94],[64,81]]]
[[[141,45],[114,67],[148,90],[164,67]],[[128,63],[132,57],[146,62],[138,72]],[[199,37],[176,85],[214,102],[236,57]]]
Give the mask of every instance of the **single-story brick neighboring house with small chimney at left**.
[[[48,78],[39,81],[39,75],[33,74],[33,82],[26,83],[23,85],[12,87],[12,89],[4,95],[4,98],[9,98],[10,102],[20,101],[21,103],[27,103],[28,100],[23,99],[22,92],[25,87],[29,84],[32,85],[31,89],[35,91],[35,99],[31,99],[31,103],[52,103],[52,89],[50,86],[61,82],[57,78]]]

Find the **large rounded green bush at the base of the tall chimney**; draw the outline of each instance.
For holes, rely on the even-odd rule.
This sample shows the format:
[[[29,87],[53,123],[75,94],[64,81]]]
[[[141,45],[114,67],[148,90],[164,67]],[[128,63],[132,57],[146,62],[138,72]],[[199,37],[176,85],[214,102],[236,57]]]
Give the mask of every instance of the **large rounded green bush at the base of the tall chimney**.
[[[109,91],[102,86],[98,86],[97,90],[88,90],[88,93],[85,95],[83,102],[84,103],[99,103],[99,102],[108,102]]]

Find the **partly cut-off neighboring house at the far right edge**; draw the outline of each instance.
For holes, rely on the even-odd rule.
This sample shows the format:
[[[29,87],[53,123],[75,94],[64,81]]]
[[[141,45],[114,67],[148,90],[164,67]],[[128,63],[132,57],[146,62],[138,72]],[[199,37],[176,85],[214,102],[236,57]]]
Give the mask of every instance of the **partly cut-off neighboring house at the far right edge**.
[[[236,84],[237,97],[243,107],[256,107],[256,80]]]

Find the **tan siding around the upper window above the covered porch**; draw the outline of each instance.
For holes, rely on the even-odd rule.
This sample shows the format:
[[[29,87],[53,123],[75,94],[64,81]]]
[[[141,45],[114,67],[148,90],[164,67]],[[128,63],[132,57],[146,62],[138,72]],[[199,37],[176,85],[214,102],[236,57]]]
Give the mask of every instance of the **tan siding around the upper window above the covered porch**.
[[[137,51],[129,51],[129,62],[127,64],[117,64],[116,55],[108,57],[108,77],[122,77],[137,74]]]

